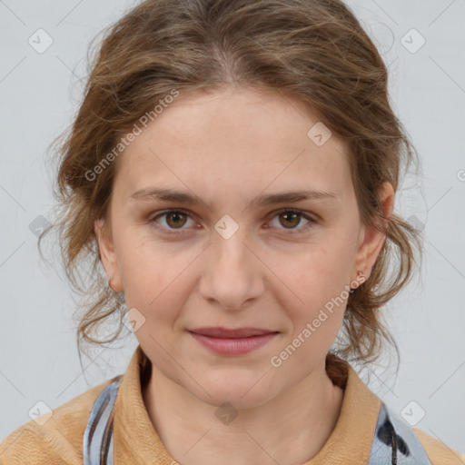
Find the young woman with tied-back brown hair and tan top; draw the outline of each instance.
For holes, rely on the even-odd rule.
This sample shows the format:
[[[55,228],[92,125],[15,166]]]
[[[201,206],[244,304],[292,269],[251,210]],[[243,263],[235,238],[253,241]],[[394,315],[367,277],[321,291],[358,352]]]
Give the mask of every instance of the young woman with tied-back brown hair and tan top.
[[[57,226],[77,288],[95,264],[78,344],[129,309],[139,346],[3,463],[465,463],[349,364],[395,346],[380,310],[420,252],[393,212],[415,153],[387,82],[339,0],[124,15],[60,147]]]

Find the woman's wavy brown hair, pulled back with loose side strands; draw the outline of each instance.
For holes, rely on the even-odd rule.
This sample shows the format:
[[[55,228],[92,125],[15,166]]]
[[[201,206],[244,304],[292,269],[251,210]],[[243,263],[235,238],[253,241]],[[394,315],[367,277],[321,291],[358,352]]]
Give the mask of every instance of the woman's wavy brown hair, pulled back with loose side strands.
[[[66,275],[89,299],[79,311],[79,352],[82,340],[114,341],[121,320],[109,339],[95,339],[93,333],[124,309],[122,295],[97,270],[94,236],[95,219],[109,223],[117,160],[93,180],[86,173],[94,173],[121,137],[173,89],[183,94],[264,86],[308,104],[346,141],[362,223],[386,234],[370,278],[349,296],[337,353],[366,364],[379,358],[381,342],[387,341],[399,359],[379,311],[411,281],[422,245],[410,223],[395,213],[383,217],[377,192],[384,181],[397,190],[401,169],[419,160],[391,109],[381,55],[346,5],[340,0],[146,0],[109,26],[92,60],[74,124],[54,141],[59,143],[55,196],[60,204],[53,227]],[[397,267],[391,269],[392,262]],[[337,359],[330,352],[328,365]]]

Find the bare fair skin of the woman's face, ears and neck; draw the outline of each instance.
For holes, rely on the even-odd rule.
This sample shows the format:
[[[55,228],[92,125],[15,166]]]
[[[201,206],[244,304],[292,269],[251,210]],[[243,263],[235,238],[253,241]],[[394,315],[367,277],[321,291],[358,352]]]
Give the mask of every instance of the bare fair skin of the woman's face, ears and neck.
[[[346,301],[280,367],[271,363],[326,302],[356,287],[359,271],[368,279],[385,240],[361,224],[343,141],[333,134],[319,147],[307,136],[317,122],[301,102],[272,91],[182,94],[118,159],[111,224],[95,222],[95,233],[114,291],[145,319],[135,331],[153,363],[143,401],[180,463],[302,463],[339,418],[343,391],[324,362]],[[130,199],[153,186],[200,203]],[[252,205],[262,194],[304,189],[337,197]],[[379,196],[391,213],[391,183]],[[180,208],[186,214],[154,219]],[[315,223],[305,229],[309,220],[282,209]],[[228,239],[214,229],[225,214],[239,226]],[[188,332],[210,326],[279,334],[251,353],[223,356]],[[225,401],[238,413],[228,424],[215,415]]]

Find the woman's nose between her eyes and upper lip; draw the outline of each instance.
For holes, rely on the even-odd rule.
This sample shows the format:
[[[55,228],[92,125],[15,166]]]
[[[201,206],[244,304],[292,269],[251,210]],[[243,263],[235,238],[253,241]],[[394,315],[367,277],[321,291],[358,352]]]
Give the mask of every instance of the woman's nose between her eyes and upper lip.
[[[200,293],[203,299],[226,310],[241,310],[265,289],[266,266],[241,228],[232,237],[213,236],[205,252]]]

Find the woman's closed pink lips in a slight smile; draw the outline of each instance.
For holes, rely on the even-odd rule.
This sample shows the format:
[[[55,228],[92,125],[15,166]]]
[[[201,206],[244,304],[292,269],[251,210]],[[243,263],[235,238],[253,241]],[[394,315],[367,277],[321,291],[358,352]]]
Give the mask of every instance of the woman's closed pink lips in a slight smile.
[[[259,349],[278,334],[258,328],[198,328],[189,331],[204,347],[221,355],[241,355]]]

